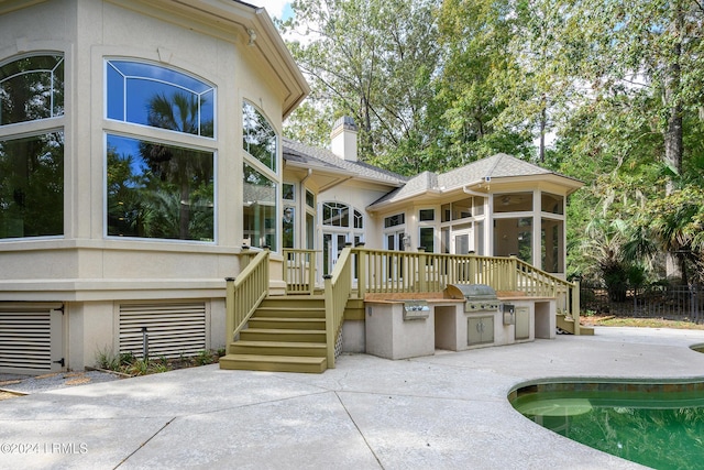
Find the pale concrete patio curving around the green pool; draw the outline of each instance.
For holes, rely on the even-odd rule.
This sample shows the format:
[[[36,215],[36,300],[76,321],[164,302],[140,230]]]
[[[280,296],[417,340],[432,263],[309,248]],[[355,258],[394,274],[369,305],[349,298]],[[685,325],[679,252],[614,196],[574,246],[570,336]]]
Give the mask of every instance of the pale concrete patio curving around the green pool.
[[[704,331],[593,337],[391,361],[323,374],[218,365],[0,402],[2,469],[626,469],[558,436],[506,395],[541,378],[704,378]]]

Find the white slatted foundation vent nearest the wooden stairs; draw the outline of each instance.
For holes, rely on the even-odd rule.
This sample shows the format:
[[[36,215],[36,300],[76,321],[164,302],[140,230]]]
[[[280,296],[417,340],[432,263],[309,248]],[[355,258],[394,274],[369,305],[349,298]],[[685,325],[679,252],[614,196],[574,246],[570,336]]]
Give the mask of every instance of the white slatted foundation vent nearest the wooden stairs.
[[[121,304],[120,353],[141,358],[144,328],[151,358],[196,356],[207,348],[205,303]]]

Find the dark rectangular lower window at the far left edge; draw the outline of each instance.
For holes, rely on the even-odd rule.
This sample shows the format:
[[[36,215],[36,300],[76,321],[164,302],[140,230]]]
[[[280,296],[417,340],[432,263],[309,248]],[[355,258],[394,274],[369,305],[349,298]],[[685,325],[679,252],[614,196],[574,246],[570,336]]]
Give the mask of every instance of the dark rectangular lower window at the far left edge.
[[[0,238],[64,233],[64,133],[0,140]]]

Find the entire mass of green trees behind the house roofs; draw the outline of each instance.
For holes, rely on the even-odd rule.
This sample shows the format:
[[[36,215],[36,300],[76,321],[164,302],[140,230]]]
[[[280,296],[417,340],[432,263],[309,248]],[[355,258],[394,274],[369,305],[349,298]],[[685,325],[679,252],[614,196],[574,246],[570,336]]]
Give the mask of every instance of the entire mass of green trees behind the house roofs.
[[[701,2],[298,0],[294,11],[283,29],[310,33],[289,46],[312,92],[292,138],[326,146],[333,118],[350,114],[362,157],[407,175],[497,152],[538,160],[585,183],[568,206],[569,275],[647,283],[670,252],[704,278]]]

